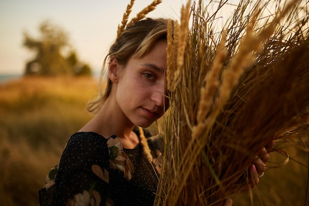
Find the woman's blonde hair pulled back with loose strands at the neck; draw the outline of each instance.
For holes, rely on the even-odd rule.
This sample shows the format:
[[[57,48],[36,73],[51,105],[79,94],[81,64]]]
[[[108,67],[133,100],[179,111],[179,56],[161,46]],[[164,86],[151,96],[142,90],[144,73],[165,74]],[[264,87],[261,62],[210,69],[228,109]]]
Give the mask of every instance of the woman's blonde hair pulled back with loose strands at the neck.
[[[103,80],[103,76],[105,69],[107,68],[107,59],[115,57],[117,63],[125,67],[132,56],[135,58],[143,57],[149,52],[155,42],[159,40],[166,40],[167,24],[168,19],[147,18],[136,21],[123,30],[123,32],[110,47],[109,53],[104,59],[103,68],[100,74],[99,95],[87,104],[88,112],[97,114],[111,92],[113,83],[108,77],[107,85],[103,86],[105,82]],[[105,87],[105,91],[103,91],[103,87]]]

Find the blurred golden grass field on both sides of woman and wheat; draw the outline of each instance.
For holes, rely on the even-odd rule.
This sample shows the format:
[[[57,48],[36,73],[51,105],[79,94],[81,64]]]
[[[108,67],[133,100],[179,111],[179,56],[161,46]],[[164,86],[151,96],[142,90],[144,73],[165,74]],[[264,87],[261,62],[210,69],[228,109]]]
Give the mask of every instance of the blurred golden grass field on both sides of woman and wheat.
[[[38,191],[58,164],[67,139],[92,118],[85,108],[96,86],[87,77],[33,77],[0,84],[0,206],[39,206]],[[295,139],[275,143],[290,160],[261,177],[253,190],[254,206],[305,205],[309,154]],[[271,154],[270,162],[284,160]],[[233,197],[233,206],[248,205],[249,193]]]

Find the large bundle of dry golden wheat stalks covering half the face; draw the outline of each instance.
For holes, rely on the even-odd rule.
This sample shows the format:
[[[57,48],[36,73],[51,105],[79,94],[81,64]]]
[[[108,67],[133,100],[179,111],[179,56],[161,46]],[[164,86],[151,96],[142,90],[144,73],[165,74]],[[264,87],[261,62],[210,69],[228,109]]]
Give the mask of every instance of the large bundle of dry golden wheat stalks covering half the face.
[[[270,1],[249,2],[218,34],[202,0],[170,23],[157,206],[223,205],[250,188],[248,168],[270,140],[309,127],[308,1],[274,1],[268,18]]]

